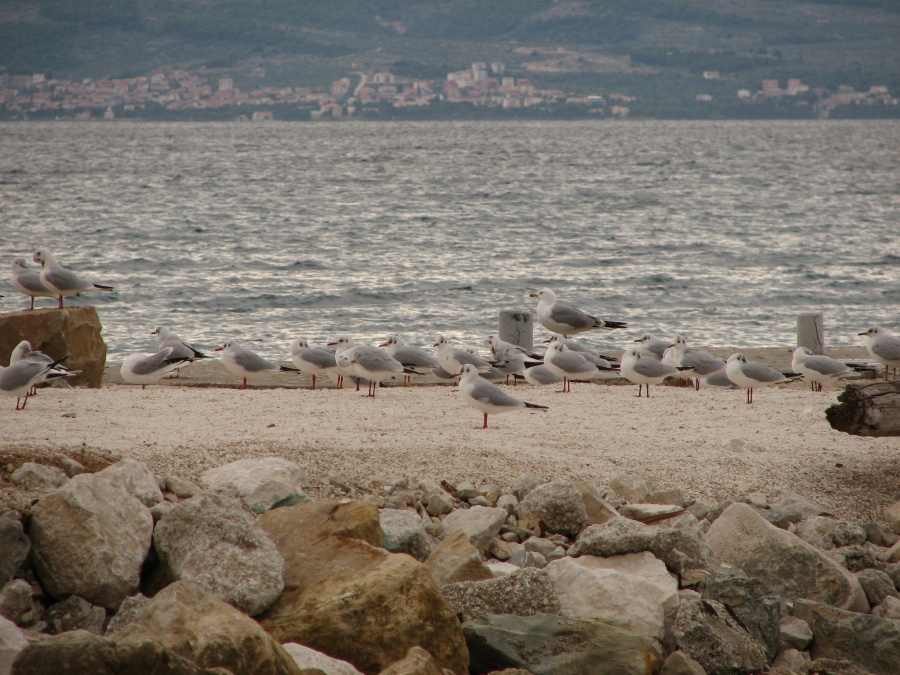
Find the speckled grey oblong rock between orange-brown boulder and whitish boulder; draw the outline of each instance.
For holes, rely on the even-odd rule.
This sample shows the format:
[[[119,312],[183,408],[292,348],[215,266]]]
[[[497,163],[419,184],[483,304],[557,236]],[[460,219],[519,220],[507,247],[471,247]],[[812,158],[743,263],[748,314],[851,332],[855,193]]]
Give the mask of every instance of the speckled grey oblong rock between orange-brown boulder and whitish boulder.
[[[550,577],[534,567],[488,581],[448,584],[441,592],[462,621],[487,614],[532,616],[560,610]]]

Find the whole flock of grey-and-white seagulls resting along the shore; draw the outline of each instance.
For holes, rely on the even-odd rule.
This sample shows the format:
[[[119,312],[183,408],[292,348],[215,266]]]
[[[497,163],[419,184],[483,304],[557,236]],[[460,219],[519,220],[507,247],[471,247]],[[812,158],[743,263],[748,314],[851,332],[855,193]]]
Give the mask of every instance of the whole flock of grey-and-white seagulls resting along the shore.
[[[31,297],[34,309],[35,297],[57,297],[59,307],[63,298],[89,291],[110,291],[103,286],[86,281],[60,265],[46,248],[40,248],[32,256],[41,265],[30,268],[23,258],[12,264],[13,287]],[[487,428],[488,415],[524,408],[545,410],[547,406],[522,401],[496,383],[510,378],[515,385],[524,379],[533,385],[560,384],[560,392],[571,391],[572,382],[593,380],[604,373],[619,373],[638,385],[638,397],[650,396],[650,385],[661,384],[667,378],[679,379],[684,386],[692,381],[701,387],[741,388],[747,391],[747,403],[753,402],[755,389],[804,378],[813,390],[822,391],[824,385],[837,380],[858,376],[871,366],[845,363],[827,356],[814,354],[805,347],[793,353],[791,371],[782,372],[765,364],[749,361],[743,354],[732,354],[727,360],[718,358],[702,349],[688,346],[681,336],[674,340],[662,340],[645,333],[626,349],[618,359],[603,356],[590,346],[572,337],[591,330],[625,329],[621,321],[608,321],[591,316],[580,309],[559,300],[556,294],[544,288],[531,294],[537,298],[538,322],[554,335],[546,341],[543,354],[519,345],[488,336],[484,345],[489,355],[479,355],[473,348],[457,347],[438,337],[433,354],[406,344],[392,335],[375,347],[356,343],[349,335],[340,335],[322,347],[310,346],[305,340],[295,340],[290,347],[293,366],[285,366],[263,358],[242,347],[235,341],[225,342],[215,351],[220,352],[222,365],[233,375],[247,381],[270,372],[302,372],[312,377],[312,388],[318,378],[328,376],[338,388],[344,379],[355,381],[357,391],[360,382],[368,383],[367,396],[375,397],[378,385],[384,380],[402,378],[409,384],[417,375],[433,375],[442,380],[458,378],[462,400],[484,414],[483,428]],[[146,387],[165,375],[177,376],[181,368],[200,359],[210,358],[166,326],[157,326],[158,351],[154,354],[132,354],[122,363],[121,376],[129,384]],[[896,376],[900,367],[900,338],[874,326],[859,333],[866,337],[870,356],[884,366],[884,376],[890,369]],[[51,358],[32,351],[27,341],[21,342],[10,357],[10,365],[0,369],[0,393],[16,396],[16,410],[25,408],[35,386],[57,377],[74,375],[62,365],[67,357]],[[618,361],[618,362],[617,362]],[[21,401],[24,397],[24,401]]]

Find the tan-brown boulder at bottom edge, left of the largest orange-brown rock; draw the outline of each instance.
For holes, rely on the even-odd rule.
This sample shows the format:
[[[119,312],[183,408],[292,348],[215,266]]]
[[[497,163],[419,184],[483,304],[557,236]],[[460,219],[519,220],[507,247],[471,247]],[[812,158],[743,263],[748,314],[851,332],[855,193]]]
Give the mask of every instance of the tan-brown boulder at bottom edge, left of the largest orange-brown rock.
[[[256,621],[187,581],[157,593],[115,634],[115,641],[154,641],[203,668],[254,675],[300,672]]]

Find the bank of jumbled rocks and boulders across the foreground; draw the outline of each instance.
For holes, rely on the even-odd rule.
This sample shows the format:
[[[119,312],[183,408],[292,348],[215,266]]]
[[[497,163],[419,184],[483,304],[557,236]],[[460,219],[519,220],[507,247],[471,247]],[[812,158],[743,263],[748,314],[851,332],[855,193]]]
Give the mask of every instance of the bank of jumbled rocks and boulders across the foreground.
[[[900,663],[900,501],[857,525],[791,491],[713,504],[629,474],[360,486],[263,457],[196,484],[58,464],[10,476],[37,497],[0,514],[0,674]]]

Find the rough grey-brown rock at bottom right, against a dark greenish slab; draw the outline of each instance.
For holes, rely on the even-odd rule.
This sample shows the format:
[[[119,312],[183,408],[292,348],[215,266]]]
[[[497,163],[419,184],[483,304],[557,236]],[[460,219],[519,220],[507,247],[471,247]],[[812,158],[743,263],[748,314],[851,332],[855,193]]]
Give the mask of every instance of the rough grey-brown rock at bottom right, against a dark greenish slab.
[[[768,666],[763,646],[715,600],[683,602],[674,632],[678,648],[708,673],[750,675]]]

